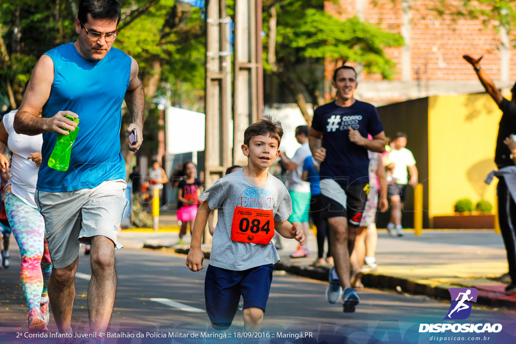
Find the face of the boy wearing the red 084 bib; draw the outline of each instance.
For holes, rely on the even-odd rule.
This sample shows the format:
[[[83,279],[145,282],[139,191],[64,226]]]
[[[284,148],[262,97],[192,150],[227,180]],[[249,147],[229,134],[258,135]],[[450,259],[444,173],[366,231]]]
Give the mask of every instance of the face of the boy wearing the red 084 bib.
[[[247,156],[249,165],[257,168],[269,168],[280,155],[278,140],[270,136],[253,136],[249,146],[243,144],[242,152]]]

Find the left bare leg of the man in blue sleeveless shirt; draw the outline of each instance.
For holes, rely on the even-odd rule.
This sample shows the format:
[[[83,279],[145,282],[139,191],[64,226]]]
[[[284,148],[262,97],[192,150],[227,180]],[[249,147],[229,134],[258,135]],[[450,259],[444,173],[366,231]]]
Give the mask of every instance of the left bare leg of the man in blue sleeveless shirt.
[[[59,333],[70,332],[72,326],[72,309],[75,300],[75,271],[79,257],[72,264],[62,269],[53,269],[50,275],[48,291],[50,306]]]

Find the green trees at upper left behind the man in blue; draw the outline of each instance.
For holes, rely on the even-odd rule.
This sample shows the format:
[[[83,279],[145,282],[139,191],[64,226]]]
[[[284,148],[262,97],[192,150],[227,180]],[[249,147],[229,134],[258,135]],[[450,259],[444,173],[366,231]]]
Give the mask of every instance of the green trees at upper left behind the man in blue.
[[[160,84],[204,89],[204,20],[201,10],[174,0],[121,0],[114,47],[133,56],[149,105]],[[17,107],[39,57],[76,38],[78,0],[0,0],[0,94]],[[196,103],[202,92],[190,101]]]

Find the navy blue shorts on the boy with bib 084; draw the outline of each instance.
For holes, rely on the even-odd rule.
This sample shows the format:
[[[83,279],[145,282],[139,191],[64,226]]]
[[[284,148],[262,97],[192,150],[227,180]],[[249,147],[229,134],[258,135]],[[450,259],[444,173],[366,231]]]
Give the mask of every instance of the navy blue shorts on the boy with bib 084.
[[[265,312],[272,283],[272,264],[234,271],[208,265],[204,281],[204,297],[209,319],[217,327],[229,327],[238,308],[240,295],[244,309],[262,308]]]

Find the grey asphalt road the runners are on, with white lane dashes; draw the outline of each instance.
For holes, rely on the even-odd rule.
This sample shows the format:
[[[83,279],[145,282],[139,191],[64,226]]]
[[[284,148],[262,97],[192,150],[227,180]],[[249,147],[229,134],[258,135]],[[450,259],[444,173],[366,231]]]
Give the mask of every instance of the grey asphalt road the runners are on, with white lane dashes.
[[[26,302],[19,282],[20,256],[14,245],[11,268],[0,270],[0,342],[55,342],[55,339],[26,337]],[[106,342],[239,342],[242,312],[238,311],[227,336],[213,332],[205,313],[204,270],[193,273],[185,266],[184,255],[163,251],[123,249],[117,252],[118,289],[109,333],[125,338],[107,338]],[[207,261],[205,260],[205,267]],[[73,310],[73,330],[88,332],[87,288],[90,274],[89,259],[80,254],[76,278],[76,299]],[[357,312],[345,314],[339,304],[329,304],[324,296],[326,283],[275,272],[262,332],[254,342],[409,342],[430,343],[432,335],[457,336],[456,333],[418,333],[421,323],[441,323],[449,309],[449,301],[398,294],[375,289],[359,290],[361,303]],[[501,323],[502,332],[488,334],[459,333],[473,336],[467,342],[514,342],[516,313],[473,306],[471,316],[458,323]],[[51,318],[51,333],[56,326]],[[289,338],[278,338],[278,333]],[[179,338],[181,334],[193,338]],[[138,338],[137,336],[140,336]],[[157,336],[169,338],[156,338]],[[134,337],[132,337],[134,336]],[[171,337],[170,337],[171,336]],[[268,336],[268,337],[267,337]],[[270,337],[273,336],[273,337]],[[296,336],[304,336],[296,340]],[[476,341],[476,337],[482,337]],[[490,337],[483,340],[483,336]],[[18,338],[17,338],[18,337]],[[372,340],[372,341],[371,341]],[[380,341],[378,341],[380,340]],[[464,342],[466,342],[464,341]],[[77,341],[76,341],[77,342]]]

